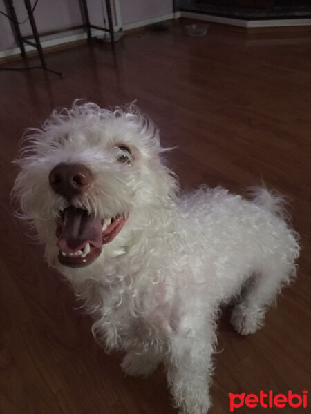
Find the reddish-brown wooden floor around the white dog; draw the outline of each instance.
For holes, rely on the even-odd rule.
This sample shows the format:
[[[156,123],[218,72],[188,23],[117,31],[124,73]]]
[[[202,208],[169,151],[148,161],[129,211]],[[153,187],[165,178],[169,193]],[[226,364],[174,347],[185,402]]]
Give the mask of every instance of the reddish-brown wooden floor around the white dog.
[[[204,182],[241,192],[263,179],[290,197],[303,246],[299,277],[255,335],[239,336],[223,312],[210,414],[229,413],[228,392],[310,390],[310,46],[310,34],[247,36],[211,26],[206,37],[191,38],[174,26],[125,37],[115,57],[106,44],[48,55],[64,79],[40,70],[0,72],[1,413],[176,413],[162,367],[147,380],[124,377],[122,355],[105,355],[97,345],[70,286],[12,217],[19,139],[75,98],[100,106],[138,99],[162,144],[177,147],[168,160],[182,188]],[[235,412],[250,411],[308,410]]]

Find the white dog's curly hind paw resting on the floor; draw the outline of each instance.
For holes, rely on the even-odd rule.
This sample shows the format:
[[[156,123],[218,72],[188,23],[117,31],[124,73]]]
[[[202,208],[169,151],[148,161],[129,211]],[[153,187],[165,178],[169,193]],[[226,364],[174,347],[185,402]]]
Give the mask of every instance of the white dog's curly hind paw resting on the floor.
[[[231,324],[240,335],[255,333],[263,326],[263,312],[236,305],[231,315]]]

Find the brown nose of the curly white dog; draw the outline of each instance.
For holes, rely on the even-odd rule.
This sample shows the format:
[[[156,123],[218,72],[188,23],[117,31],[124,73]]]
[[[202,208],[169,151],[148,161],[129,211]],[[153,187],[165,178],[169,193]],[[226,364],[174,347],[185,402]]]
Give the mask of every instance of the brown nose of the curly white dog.
[[[71,199],[88,189],[93,181],[93,175],[83,164],[61,163],[50,171],[48,180],[55,193]]]

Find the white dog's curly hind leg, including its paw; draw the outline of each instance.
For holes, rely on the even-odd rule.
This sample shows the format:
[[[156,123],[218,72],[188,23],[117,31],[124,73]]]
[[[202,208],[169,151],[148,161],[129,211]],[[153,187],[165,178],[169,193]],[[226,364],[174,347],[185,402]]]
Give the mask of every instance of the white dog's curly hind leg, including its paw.
[[[276,303],[276,296],[289,282],[290,270],[290,266],[274,264],[252,277],[232,311],[231,324],[238,333],[249,335],[263,326],[267,308]]]

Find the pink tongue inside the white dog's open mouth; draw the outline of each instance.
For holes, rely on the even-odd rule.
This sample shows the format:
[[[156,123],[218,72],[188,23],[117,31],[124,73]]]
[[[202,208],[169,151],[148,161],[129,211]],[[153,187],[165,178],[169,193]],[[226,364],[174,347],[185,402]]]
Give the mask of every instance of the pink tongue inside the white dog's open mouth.
[[[83,249],[86,243],[102,246],[102,220],[81,208],[66,208],[57,246],[63,252],[71,253]]]

